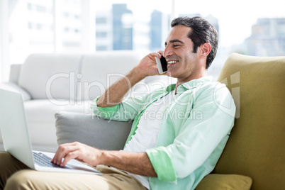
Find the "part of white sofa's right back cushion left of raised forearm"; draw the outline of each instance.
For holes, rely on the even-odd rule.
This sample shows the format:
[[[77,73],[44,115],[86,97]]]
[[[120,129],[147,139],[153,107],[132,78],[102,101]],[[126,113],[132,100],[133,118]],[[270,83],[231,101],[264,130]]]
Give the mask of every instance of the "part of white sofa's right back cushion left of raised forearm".
[[[78,88],[78,94],[82,94],[85,100],[95,99],[106,91],[108,86],[128,74],[141,58],[138,52],[126,50],[84,55],[80,71],[82,87]]]

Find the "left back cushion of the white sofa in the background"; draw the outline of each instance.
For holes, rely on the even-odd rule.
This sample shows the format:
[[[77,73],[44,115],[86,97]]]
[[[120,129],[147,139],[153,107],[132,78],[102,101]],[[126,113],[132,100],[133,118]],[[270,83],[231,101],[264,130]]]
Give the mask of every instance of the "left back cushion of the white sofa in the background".
[[[27,57],[18,84],[32,99],[76,99],[82,55],[34,54]]]

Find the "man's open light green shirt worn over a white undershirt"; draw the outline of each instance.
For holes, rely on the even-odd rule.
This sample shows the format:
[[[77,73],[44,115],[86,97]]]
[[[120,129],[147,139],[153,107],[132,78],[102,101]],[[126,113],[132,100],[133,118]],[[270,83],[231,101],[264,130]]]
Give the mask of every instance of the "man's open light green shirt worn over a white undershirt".
[[[91,108],[101,118],[134,120],[128,142],[147,106],[174,89],[171,84],[106,108],[97,107],[96,99]],[[146,151],[157,173],[150,177],[151,189],[195,189],[218,162],[234,119],[235,104],[224,84],[203,77],[179,85],[163,113],[157,145]]]

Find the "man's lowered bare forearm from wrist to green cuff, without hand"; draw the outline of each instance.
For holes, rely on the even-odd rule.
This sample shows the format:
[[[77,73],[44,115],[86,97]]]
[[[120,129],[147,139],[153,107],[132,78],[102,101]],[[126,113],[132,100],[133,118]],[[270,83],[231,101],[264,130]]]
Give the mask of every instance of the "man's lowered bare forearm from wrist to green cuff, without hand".
[[[147,177],[157,177],[147,153],[102,151],[101,160],[108,166]]]

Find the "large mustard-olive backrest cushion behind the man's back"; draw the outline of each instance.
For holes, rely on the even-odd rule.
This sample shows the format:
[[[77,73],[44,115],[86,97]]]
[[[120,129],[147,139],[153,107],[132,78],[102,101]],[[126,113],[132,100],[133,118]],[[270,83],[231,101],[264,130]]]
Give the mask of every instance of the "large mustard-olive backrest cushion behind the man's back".
[[[233,54],[220,82],[237,106],[235,125],[214,169],[252,178],[252,189],[285,189],[285,57]]]

